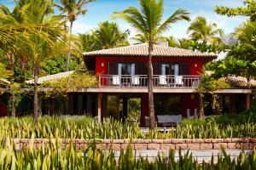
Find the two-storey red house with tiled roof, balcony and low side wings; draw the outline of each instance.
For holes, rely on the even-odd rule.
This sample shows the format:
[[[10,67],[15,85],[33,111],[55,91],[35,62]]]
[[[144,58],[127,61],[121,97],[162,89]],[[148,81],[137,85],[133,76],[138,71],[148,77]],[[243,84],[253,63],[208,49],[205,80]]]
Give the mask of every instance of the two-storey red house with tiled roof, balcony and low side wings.
[[[131,105],[135,103],[141,125],[145,125],[148,116],[147,57],[147,43],[84,53],[84,64],[90,74],[98,77],[99,85],[70,92],[65,114],[90,113],[97,116],[99,121],[103,116],[125,119],[133,111],[134,107],[131,108]],[[202,67],[216,58],[216,54],[154,45],[152,62],[155,114],[196,116],[200,97],[195,88],[201,82]],[[41,77],[39,82],[43,79],[65,77],[69,73]],[[227,77],[224,81],[235,86],[217,91],[222,110],[236,112],[249,108],[255,92],[245,86],[246,80],[242,77]],[[256,87],[256,82],[252,82],[254,83]],[[212,114],[211,107],[206,107],[207,114]]]

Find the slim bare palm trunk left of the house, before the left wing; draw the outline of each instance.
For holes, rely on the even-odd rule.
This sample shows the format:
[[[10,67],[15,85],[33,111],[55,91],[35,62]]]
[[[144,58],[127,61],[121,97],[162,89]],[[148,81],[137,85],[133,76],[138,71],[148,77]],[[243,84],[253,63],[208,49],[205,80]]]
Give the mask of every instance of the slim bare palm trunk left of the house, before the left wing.
[[[38,124],[38,64],[34,65],[34,121]]]

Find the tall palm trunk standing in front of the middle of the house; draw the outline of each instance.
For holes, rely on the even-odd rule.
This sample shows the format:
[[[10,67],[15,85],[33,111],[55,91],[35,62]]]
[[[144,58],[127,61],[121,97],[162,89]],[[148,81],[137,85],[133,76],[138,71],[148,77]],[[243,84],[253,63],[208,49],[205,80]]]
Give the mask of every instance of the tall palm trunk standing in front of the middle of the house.
[[[152,67],[153,41],[149,36],[148,43],[148,111],[150,118],[150,128],[156,127],[154,118],[154,94],[153,94],[153,67]]]

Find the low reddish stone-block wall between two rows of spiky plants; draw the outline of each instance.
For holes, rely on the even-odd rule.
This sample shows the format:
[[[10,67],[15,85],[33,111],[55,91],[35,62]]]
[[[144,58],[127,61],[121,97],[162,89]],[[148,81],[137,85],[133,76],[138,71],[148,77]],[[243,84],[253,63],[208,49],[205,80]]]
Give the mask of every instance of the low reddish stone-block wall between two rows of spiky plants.
[[[25,149],[32,144],[36,147],[42,147],[49,143],[55,143],[55,139],[14,139],[16,150]],[[256,147],[256,139],[59,139],[57,141],[62,148],[70,147],[74,144],[77,150],[84,150],[90,144],[96,144],[98,149],[122,150],[126,149],[128,144],[134,150],[219,150],[224,149],[245,149],[252,150]]]

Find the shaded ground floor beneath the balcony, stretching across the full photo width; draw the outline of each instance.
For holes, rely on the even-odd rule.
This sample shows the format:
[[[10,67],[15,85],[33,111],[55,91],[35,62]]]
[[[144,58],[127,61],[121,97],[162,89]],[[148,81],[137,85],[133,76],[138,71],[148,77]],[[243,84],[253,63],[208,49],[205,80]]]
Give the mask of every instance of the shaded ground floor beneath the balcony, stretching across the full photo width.
[[[216,94],[217,109],[212,109],[212,94],[205,94],[206,116],[219,112],[239,113],[256,105],[256,92],[252,89],[225,89]],[[10,115],[9,101],[9,94],[0,95],[1,116]],[[99,121],[112,116],[116,120],[140,122],[142,127],[148,127],[149,123],[147,88],[88,88],[68,93],[65,97],[45,97],[44,93],[40,93],[39,105],[42,115],[87,115],[97,117]],[[162,115],[197,117],[199,108],[200,96],[194,89],[154,88],[156,118]],[[25,96],[19,99],[16,115],[31,114],[32,109],[32,96]]]

